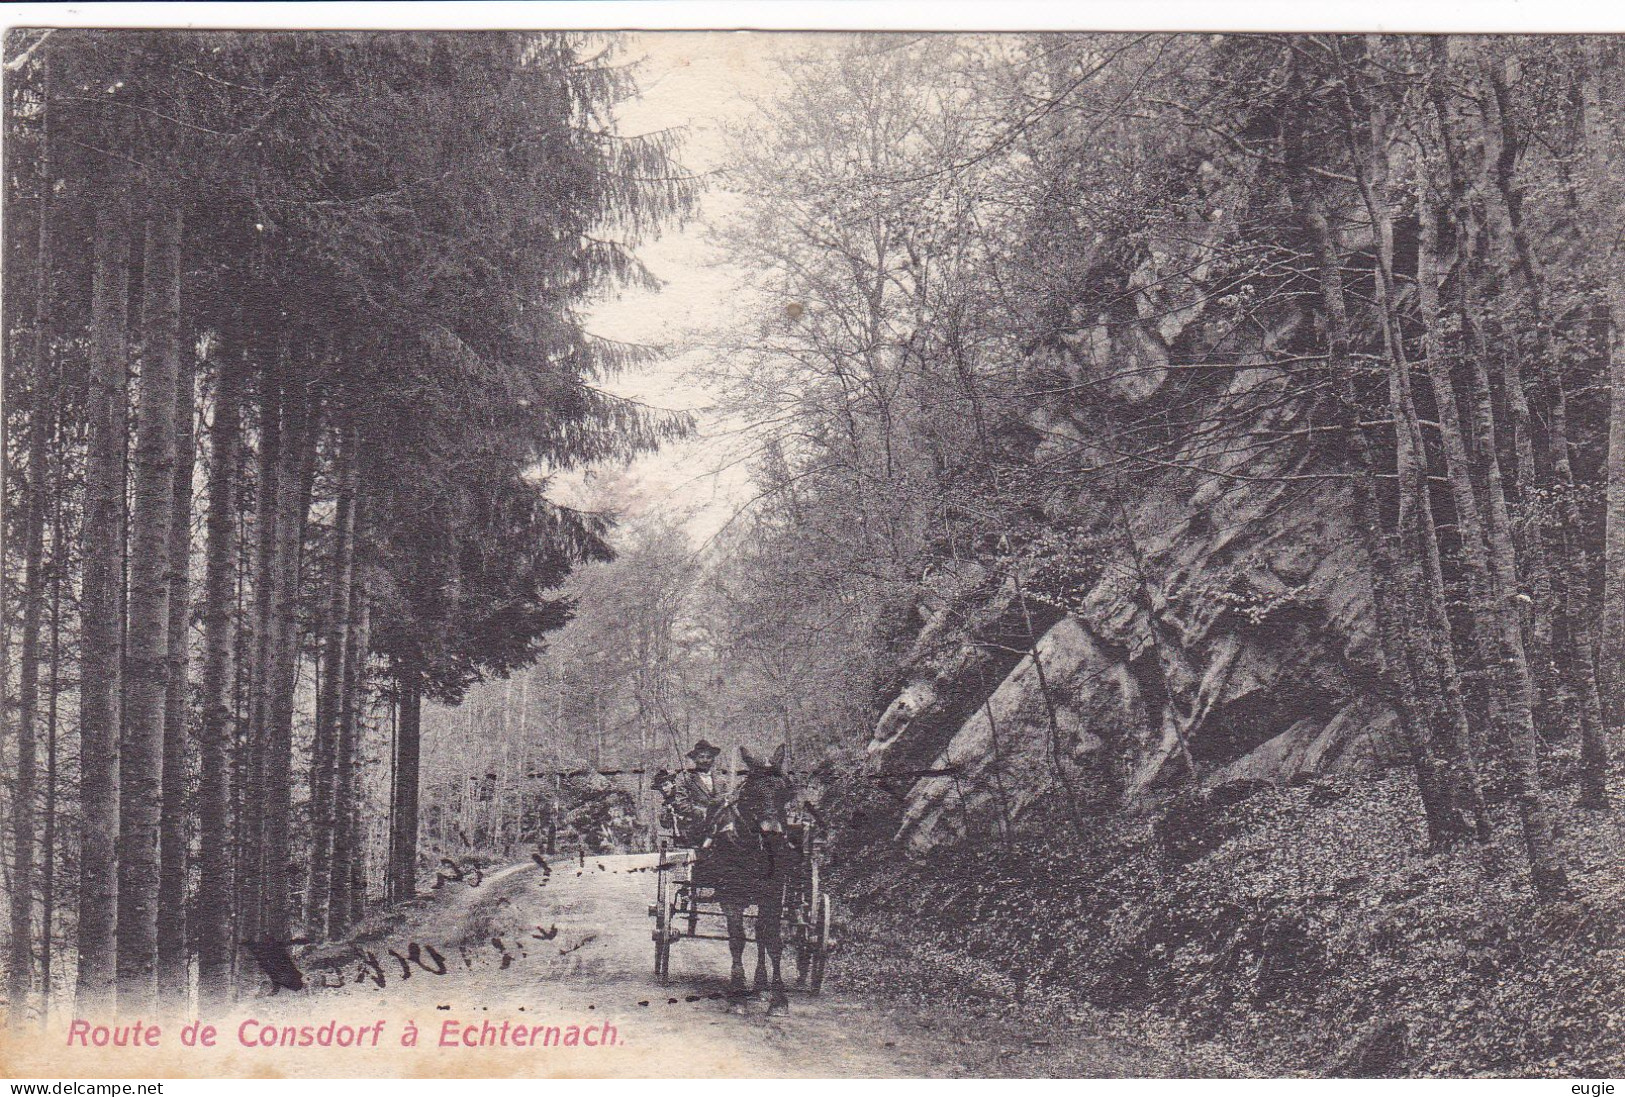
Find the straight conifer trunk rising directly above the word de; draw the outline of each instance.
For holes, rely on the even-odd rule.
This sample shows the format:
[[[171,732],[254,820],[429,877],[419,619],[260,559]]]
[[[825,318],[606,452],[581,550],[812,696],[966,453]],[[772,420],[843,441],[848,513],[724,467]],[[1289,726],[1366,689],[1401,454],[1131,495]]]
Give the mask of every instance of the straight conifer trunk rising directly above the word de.
[[[236,655],[237,457],[242,372],[236,349],[219,359],[210,424],[208,546],[203,562],[203,722],[198,735],[198,897],[193,936],[198,999],[231,993],[231,739]]]

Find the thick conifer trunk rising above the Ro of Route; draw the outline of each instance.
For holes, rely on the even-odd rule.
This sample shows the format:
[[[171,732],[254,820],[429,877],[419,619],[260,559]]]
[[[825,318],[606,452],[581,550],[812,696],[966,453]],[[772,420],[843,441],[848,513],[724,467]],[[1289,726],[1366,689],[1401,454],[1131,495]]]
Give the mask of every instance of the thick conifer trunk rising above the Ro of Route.
[[[122,198],[96,213],[89,458],[84,479],[80,655],[78,1014],[114,1006],[119,904],[119,717],[124,644],[125,327],[130,223]]]

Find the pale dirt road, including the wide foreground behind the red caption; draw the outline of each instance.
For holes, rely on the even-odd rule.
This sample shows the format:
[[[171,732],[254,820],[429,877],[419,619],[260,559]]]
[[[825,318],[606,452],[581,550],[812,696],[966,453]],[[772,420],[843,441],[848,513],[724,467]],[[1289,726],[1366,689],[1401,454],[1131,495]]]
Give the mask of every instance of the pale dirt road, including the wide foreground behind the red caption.
[[[791,990],[746,1014],[723,998],[728,946],[684,939],[653,975],[653,855],[512,865],[445,882],[358,941],[296,956],[302,986],[179,1022],[153,1048],[63,1047],[65,1027],[0,1048],[18,1074],[132,1076],[1138,1076],[1181,1073],[1079,1025],[988,1019]],[[754,967],[754,949],[746,956]],[[840,956],[835,960],[840,964]],[[795,964],[786,954],[785,973]],[[838,969],[837,969],[838,970]]]

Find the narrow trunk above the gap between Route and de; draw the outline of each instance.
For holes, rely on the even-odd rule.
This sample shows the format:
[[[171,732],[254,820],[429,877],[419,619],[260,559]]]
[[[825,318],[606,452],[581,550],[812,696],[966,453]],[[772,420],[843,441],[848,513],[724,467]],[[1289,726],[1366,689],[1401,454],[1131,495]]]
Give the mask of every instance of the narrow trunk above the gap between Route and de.
[[[176,371],[176,471],[169,512],[169,681],[164,694],[164,819],[158,865],[158,990],[179,1011],[187,1001],[187,648],[192,621],[192,468],[197,436],[192,426],[197,356],[179,348]]]

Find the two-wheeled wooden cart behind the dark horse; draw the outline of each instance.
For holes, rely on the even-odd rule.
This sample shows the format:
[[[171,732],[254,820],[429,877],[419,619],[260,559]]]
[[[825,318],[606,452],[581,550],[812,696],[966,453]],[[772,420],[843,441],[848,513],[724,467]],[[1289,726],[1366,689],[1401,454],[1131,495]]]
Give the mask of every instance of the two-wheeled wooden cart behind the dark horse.
[[[819,881],[824,839],[812,824],[795,826],[786,837],[790,848],[798,855],[798,863],[783,874],[780,933],[783,944],[796,956],[796,985],[816,995],[824,985],[824,970],[835,949],[835,908]],[[704,868],[705,855],[704,848],[668,848],[668,842],[660,843],[655,873],[658,882],[648,913],[655,918],[650,934],[655,939],[655,975],[663,983],[671,973],[671,946],[678,941],[730,939],[723,925],[726,913],[715,897],[715,889],[704,882],[704,873],[696,879],[696,869]],[[757,928],[760,913],[746,915],[746,920],[748,941],[760,946]]]

